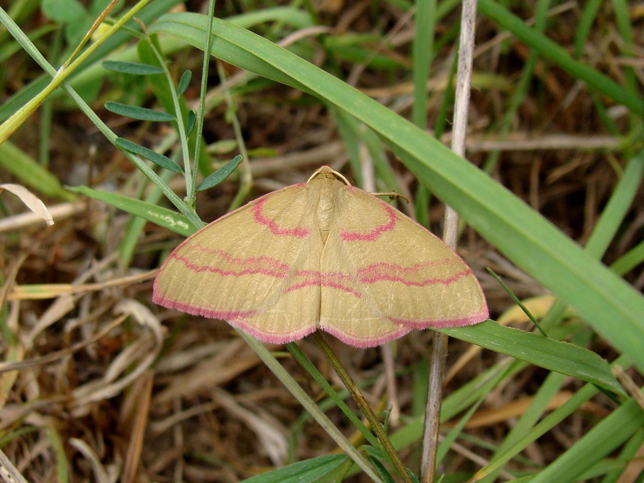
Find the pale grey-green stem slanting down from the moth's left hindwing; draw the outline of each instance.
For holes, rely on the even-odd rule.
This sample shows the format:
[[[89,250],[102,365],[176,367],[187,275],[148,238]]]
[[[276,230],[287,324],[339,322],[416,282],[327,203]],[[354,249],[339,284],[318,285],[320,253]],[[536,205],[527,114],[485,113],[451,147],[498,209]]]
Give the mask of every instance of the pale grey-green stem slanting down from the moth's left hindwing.
[[[237,330],[237,329],[236,329]],[[322,426],[323,430],[327,431],[328,435],[334,439],[337,445],[345,451],[345,453],[354,460],[365,473],[375,482],[382,483],[381,478],[379,478],[374,469],[367,462],[365,457],[360,454],[358,450],[346,439],[346,437],[334,426],[334,424],[328,419],[327,415],[322,412],[320,408],[317,407],[317,404],[308,397],[307,393],[299,386],[299,384],[293,379],[293,377],[287,372],[287,370],[278,362],[275,357],[270,354],[269,350],[263,346],[260,341],[249,336],[243,330],[237,330],[237,333],[244,339],[252,350],[260,357],[265,365],[275,374],[279,381],[281,381],[284,386],[290,391],[292,395],[296,397],[299,403],[307,410],[312,417]],[[391,444],[391,443],[390,443]],[[411,482],[409,482],[411,483]]]

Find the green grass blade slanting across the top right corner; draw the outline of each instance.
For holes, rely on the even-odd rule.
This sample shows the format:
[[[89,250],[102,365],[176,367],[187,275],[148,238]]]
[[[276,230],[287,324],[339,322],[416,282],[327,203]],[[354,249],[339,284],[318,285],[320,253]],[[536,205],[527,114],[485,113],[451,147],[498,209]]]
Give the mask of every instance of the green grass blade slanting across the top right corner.
[[[480,0],[478,10],[500,26],[507,28],[516,37],[537,50],[546,59],[550,59],[560,68],[576,79],[586,82],[591,88],[611,97],[615,102],[627,106],[633,113],[644,116],[644,100],[626,90],[591,66],[577,62],[571,55],[554,41],[530,28],[516,15],[493,0]]]

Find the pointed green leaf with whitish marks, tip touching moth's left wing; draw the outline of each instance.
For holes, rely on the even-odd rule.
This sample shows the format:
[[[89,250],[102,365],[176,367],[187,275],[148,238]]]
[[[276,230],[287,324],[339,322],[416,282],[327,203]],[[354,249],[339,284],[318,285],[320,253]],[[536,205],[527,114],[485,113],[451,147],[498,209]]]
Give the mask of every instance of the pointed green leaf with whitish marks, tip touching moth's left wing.
[[[196,231],[194,225],[189,222],[184,215],[176,213],[176,211],[162,208],[160,206],[152,205],[141,200],[135,200],[118,193],[108,193],[108,191],[98,191],[91,189],[87,186],[73,186],[68,187],[75,193],[84,194],[95,200],[99,200],[127,211],[131,214],[136,214],[141,218],[145,218],[149,222],[153,222],[161,227],[166,227],[183,236],[190,236]]]

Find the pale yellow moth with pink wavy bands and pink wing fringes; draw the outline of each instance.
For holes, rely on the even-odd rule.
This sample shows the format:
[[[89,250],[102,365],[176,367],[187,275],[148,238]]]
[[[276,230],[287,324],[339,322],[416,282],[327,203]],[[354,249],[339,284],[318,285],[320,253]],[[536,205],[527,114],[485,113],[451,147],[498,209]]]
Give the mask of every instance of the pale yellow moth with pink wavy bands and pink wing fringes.
[[[265,343],[322,329],[370,347],[488,318],[476,277],[450,247],[328,166],[187,238],[162,265],[153,300]]]

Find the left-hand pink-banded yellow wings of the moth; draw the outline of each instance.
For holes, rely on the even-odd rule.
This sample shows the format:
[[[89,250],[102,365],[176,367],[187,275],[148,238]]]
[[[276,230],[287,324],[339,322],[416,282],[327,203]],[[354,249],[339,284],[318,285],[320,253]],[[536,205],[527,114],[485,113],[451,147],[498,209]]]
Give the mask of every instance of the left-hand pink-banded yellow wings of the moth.
[[[156,277],[153,300],[285,343],[317,328],[322,242],[306,184],[269,193],[187,238]]]

